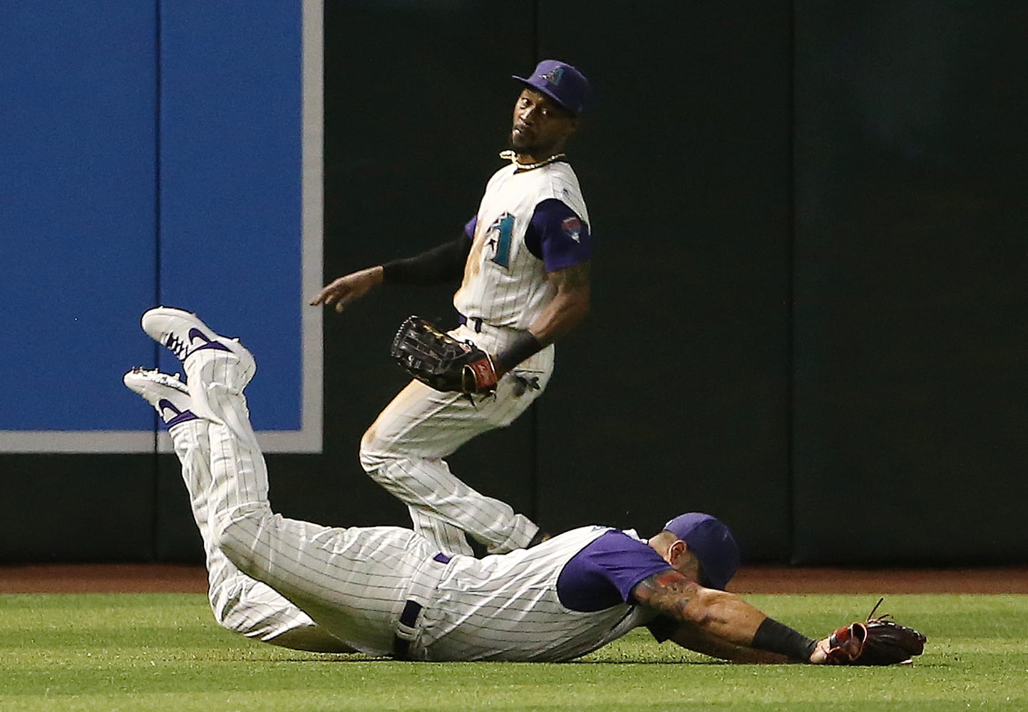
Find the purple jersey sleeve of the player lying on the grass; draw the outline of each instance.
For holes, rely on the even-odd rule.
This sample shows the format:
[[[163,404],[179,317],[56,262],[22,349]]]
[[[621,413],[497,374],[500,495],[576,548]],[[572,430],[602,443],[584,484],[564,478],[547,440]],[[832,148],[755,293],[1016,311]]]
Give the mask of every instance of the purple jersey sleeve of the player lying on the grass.
[[[572,610],[602,610],[629,602],[636,584],[670,568],[646,541],[612,529],[564,564],[557,596]]]

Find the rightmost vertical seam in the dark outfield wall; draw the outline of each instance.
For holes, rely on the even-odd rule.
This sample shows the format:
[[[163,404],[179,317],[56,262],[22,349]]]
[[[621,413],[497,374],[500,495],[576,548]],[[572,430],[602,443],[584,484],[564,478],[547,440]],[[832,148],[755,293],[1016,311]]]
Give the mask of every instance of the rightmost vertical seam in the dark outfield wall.
[[[790,3],[788,26],[788,286],[786,292],[788,354],[786,382],[788,496],[788,560],[796,563],[796,1]]]

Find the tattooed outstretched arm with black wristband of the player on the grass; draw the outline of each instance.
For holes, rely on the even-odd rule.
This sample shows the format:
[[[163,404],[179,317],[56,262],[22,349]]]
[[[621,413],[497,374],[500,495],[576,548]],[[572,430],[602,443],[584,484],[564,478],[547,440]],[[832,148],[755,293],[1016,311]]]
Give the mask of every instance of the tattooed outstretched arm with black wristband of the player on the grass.
[[[680,624],[671,639],[699,652],[738,662],[824,662],[824,640],[815,641],[768,617],[726,591],[705,589],[675,570],[635,585],[632,598]],[[699,647],[693,647],[698,645]],[[752,652],[744,652],[748,648]],[[777,660],[759,653],[776,653]]]

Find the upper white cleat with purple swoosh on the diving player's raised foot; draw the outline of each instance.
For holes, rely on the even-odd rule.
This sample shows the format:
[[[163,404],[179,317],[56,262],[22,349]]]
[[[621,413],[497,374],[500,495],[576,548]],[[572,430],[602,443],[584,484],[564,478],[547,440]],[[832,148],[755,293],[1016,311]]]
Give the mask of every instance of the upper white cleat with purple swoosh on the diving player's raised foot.
[[[238,339],[221,336],[190,311],[158,306],[143,314],[141,325],[150,338],[167,346],[184,367],[192,365],[187,362],[209,361],[209,358],[219,355],[234,358],[238,374],[234,385],[240,390],[246,387],[257,371],[253,354]],[[188,368],[186,373],[190,373]]]

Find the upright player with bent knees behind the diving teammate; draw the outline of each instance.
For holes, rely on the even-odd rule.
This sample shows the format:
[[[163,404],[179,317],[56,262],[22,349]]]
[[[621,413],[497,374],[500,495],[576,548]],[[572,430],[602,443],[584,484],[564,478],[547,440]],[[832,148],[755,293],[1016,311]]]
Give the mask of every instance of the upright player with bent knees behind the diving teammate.
[[[342,311],[377,285],[435,284],[463,274],[453,296],[461,326],[450,334],[492,355],[494,394],[472,402],[412,381],[361,442],[368,475],[408,505],[415,531],[449,553],[473,552],[465,532],[491,554],[545,539],[527,517],[454,477],[443,458],[528,408],[550,379],[553,343],[589,310],[589,215],[563,153],[589,83],[575,67],[553,60],[514,79],[523,88],[511,148],[501,154],[511,162],[489,179],[461,237],[341,276],[310,302]]]

